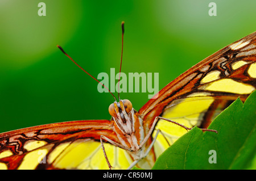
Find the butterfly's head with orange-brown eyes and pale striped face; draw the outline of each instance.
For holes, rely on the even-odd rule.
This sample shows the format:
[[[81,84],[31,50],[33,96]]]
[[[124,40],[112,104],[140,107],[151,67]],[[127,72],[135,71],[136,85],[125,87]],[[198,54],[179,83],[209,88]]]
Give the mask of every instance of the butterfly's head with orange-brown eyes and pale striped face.
[[[113,117],[118,128],[123,133],[131,134],[134,132],[133,128],[133,105],[130,100],[124,99],[119,102],[114,102],[109,106],[109,113]]]

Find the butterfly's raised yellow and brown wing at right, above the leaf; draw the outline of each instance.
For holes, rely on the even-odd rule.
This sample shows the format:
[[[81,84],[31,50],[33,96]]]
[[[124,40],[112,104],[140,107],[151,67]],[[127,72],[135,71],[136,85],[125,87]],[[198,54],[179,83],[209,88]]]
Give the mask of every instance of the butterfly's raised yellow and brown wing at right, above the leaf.
[[[228,45],[185,71],[139,110],[144,128],[156,116],[187,127],[207,128],[210,121],[240,96],[245,100],[256,87],[256,32]],[[186,131],[166,121],[156,125],[172,143]],[[153,134],[154,136],[154,134]],[[162,135],[156,154],[168,148]]]

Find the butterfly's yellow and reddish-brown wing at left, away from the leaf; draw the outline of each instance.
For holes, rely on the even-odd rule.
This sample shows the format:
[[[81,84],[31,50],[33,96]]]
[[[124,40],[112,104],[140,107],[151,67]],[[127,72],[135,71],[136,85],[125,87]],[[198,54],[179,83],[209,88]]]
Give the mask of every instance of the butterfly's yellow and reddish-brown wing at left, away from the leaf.
[[[119,142],[113,121],[40,125],[0,134],[0,169],[108,169],[100,136]],[[105,143],[115,169],[133,162],[125,150]],[[122,158],[122,159],[121,159]]]

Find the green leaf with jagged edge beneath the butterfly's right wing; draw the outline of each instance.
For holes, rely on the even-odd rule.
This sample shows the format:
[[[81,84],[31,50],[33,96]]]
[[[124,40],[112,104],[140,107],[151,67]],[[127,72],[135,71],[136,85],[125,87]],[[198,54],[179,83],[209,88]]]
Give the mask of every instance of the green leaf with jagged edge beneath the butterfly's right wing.
[[[238,98],[218,115],[209,126],[217,134],[197,127],[184,134],[152,169],[256,169],[255,100],[256,91],[244,104]]]

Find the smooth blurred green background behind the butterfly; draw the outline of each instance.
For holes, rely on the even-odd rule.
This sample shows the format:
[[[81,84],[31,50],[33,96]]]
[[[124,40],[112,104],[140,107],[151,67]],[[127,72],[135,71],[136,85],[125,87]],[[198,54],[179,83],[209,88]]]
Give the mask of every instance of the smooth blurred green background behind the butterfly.
[[[38,3],[46,16],[38,16]],[[209,16],[209,2],[217,16]],[[159,89],[197,62],[256,30],[256,1],[0,0],[0,132],[69,120],[110,119],[94,77],[159,73]],[[114,93],[117,95],[117,93]],[[122,93],[136,110],[146,93]]]

